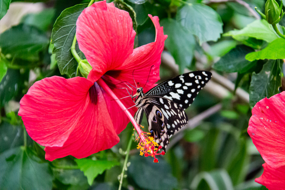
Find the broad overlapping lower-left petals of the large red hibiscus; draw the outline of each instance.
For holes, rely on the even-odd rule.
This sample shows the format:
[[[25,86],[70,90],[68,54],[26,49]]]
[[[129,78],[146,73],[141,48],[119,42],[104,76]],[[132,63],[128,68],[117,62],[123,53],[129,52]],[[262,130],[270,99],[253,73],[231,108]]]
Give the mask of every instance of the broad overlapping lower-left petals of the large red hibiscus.
[[[119,142],[104,91],[93,85],[83,77],[54,76],[37,81],[21,99],[18,115],[31,138],[46,146],[46,159],[83,158]]]

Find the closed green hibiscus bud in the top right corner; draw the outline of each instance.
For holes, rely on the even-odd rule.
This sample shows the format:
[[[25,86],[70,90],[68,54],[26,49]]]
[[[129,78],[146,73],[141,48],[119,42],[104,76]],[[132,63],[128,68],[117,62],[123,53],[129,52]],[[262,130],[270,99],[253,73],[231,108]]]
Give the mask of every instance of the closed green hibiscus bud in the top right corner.
[[[281,6],[275,0],[267,0],[265,3],[265,16],[269,24],[276,24],[280,21],[280,14],[282,11],[282,2]],[[283,16],[283,11],[281,16]]]

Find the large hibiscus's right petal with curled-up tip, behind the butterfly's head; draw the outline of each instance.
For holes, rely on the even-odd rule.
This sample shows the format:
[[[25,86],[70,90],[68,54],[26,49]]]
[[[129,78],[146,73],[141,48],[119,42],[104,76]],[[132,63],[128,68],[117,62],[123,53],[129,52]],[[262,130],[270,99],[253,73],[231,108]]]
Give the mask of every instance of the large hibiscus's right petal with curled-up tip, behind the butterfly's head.
[[[152,17],[151,15],[149,15],[149,17],[155,25],[155,41],[134,49],[134,52],[124,61],[122,66],[117,67],[114,70],[107,71],[107,73],[102,77],[102,79],[110,87],[116,87],[112,88],[112,91],[118,98],[129,95],[125,89],[118,89],[127,88],[126,83],[116,85],[122,81],[130,83],[134,87],[136,87],[136,83],[139,82],[140,85],[144,87],[144,92],[147,92],[159,80],[161,53],[163,51],[164,41],[167,38],[167,35],[163,34],[163,27],[159,25],[158,17]],[[151,68],[151,66],[153,67]],[[93,71],[91,71],[91,73],[93,73]],[[88,79],[92,80],[92,76],[93,74],[88,75]],[[135,94],[136,88],[132,87],[131,85],[129,86],[134,90],[133,94]],[[128,90],[130,93],[132,92],[132,90],[129,88]],[[126,108],[134,106],[134,102],[130,97],[121,99],[121,102]],[[124,112],[119,112],[121,111],[121,108],[119,108],[115,101],[110,101],[110,107],[108,110],[116,132],[120,133],[126,128],[126,125],[130,122],[130,120]],[[134,115],[136,110],[136,107],[129,109],[132,115]]]

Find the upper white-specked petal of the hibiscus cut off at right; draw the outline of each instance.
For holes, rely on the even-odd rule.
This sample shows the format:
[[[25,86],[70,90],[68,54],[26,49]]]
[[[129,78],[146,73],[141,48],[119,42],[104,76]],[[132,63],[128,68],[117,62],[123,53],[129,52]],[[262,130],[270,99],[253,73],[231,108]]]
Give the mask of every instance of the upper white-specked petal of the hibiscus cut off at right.
[[[263,98],[252,109],[248,134],[272,168],[285,165],[285,92]]]

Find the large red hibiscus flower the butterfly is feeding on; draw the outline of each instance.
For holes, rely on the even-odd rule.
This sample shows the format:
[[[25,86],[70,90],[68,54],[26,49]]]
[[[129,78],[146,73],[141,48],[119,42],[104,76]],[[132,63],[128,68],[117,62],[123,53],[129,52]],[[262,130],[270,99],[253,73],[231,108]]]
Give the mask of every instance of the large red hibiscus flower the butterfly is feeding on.
[[[145,90],[159,80],[167,36],[158,17],[149,17],[156,29],[155,42],[133,49],[136,33],[128,12],[99,1],[80,14],[76,37],[93,67],[87,79],[45,78],[35,82],[20,101],[18,114],[31,138],[45,146],[45,159],[67,155],[83,158],[119,142],[117,134],[126,128],[136,108],[129,109],[129,118],[120,112],[117,101],[111,100],[128,93],[118,89],[126,85],[116,84],[126,81],[135,86],[133,73],[136,82],[146,83]],[[131,98],[121,102],[127,108],[134,105]]]

